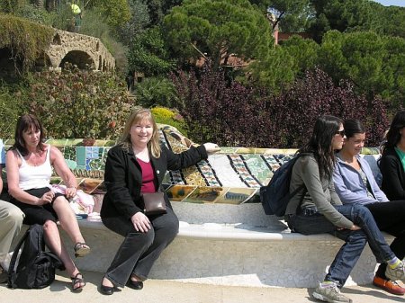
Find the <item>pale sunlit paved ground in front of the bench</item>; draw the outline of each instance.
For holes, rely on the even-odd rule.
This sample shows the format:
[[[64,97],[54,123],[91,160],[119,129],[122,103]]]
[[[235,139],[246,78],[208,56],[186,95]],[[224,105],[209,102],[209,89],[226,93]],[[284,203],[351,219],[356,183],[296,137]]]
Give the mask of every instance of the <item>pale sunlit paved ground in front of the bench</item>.
[[[133,303],[295,303],[317,302],[311,290],[284,288],[253,288],[213,286],[178,281],[148,280],[143,290],[125,288],[112,296],[103,296],[97,286],[102,279],[99,272],[84,272],[87,285],[81,293],[70,291],[69,280],[57,276],[50,287],[43,290],[9,290],[0,286],[1,303],[42,302],[133,302]],[[343,291],[354,303],[405,302],[405,297],[394,296],[374,286],[347,287]]]

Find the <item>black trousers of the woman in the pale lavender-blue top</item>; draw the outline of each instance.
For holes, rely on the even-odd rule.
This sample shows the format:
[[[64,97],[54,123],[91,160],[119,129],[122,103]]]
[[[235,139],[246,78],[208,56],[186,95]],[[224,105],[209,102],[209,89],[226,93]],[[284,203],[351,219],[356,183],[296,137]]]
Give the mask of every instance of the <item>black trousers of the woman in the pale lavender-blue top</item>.
[[[405,201],[375,202],[365,205],[373,214],[380,230],[395,236],[390,245],[392,253],[401,260],[405,257]],[[375,275],[385,277],[387,263],[381,263]]]

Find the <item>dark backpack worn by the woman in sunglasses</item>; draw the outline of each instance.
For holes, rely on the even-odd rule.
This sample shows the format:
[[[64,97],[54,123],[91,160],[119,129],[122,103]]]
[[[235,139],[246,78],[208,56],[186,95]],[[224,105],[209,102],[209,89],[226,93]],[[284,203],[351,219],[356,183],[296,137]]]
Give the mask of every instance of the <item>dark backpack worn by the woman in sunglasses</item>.
[[[265,209],[266,215],[275,215],[283,217],[288,202],[293,196],[300,192],[305,186],[298,187],[294,192],[290,193],[291,174],[293,166],[300,156],[308,156],[310,153],[301,153],[294,156],[293,159],[281,165],[273,174],[272,179],[267,186],[260,188],[260,201]]]

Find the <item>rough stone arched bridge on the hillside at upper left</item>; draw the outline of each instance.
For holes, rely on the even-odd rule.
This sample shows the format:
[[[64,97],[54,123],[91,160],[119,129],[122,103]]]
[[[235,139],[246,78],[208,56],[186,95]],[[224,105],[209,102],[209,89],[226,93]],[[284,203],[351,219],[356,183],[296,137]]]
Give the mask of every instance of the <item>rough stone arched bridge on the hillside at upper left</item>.
[[[115,59],[100,39],[70,31],[55,29],[44,57],[37,60],[37,67],[59,68],[70,62],[80,69],[112,71],[115,68]]]

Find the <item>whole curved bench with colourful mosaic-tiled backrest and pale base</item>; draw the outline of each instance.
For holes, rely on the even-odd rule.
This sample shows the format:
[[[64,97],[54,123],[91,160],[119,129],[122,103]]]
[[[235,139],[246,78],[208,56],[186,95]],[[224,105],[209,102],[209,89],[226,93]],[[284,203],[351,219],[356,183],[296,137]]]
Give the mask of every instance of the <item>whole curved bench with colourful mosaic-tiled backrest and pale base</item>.
[[[180,152],[193,144],[176,129],[160,126],[161,140]],[[49,140],[59,147],[79,181],[100,208],[105,187],[103,165],[115,142]],[[12,141],[4,141],[7,147]],[[290,159],[293,149],[221,147],[208,161],[181,172],[166,174],[165,188],[180,219],[179,235],[157,260],[151,278],[224,285],[313,287],[342,245],[330,235],[302,236],[291,233],[284,220],[266,216],[258,189],[275,170]],[[378,150],[365,156],[379,179]],[[373,155],[374,154],[374,155]],[[57,177],[54,183],[59,183]],[[121,244],[97,220],[79,225],[93,254],[77,259],[84,270],[104,272]],[[66,238],[66,235],[64,236]],[[66,241],[68,241],[66,239]],[[367,247],[347,284],[372,281],[375,260]]]

